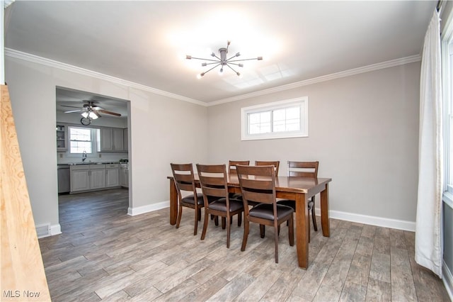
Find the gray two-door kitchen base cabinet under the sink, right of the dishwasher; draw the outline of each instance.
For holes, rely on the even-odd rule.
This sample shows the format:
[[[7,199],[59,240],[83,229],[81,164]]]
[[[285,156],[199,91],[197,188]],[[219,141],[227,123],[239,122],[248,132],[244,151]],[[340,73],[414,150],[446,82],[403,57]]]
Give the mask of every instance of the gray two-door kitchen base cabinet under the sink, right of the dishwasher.
[[[105,164],[71,166],[71,192],[105,188]]]

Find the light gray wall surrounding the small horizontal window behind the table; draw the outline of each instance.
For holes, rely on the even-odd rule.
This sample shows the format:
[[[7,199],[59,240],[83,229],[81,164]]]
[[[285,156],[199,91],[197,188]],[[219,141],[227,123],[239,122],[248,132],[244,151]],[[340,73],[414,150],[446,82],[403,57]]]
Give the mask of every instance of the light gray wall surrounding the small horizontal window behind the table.
[[[288,160],[319,160],[319,177],[333,179],[332,217],[413,224],[419,81],[415,62],[209,107],[210,162],[280,160],[285,175]],[[299,96],[309,97],[308,138],[241,141],[241,107]]]

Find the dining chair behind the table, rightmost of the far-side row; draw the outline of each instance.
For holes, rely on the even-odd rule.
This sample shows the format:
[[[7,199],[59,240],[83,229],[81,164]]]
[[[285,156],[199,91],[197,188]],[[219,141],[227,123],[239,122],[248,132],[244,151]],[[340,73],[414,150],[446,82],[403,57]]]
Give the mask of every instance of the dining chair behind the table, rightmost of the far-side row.
[[[311,177],[318,178],[318,167],[319,162],[287,162],[287,174],[288,177]],[[315,231],[318,231],[318,226],[316,225],[316,215],[314,213],[314,201],[315,196],[312,196],[309,199],[307,204],[309,212],[311,212],[311,220],[313,220],[313,228]],[[280,204],[285,206],[290,206],[296,210],[296,201],[283,199],[278,201]],[[309,241],[310,241],[310,224],[309,224]]]

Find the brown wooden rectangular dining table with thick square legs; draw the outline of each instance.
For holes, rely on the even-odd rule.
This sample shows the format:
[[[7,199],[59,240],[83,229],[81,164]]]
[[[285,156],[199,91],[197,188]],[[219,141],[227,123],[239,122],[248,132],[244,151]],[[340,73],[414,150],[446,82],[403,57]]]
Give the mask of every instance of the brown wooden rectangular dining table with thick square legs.
[[[170,224],[176,224],[178,217],[178,193],[173,177],[170,180]],[[228,190],[232,193],[241,193],[239,179],[236,173],[228,174]],[[277,198],[296,201],[296,249],[299,267],[307,269],[309,266],[309,211],[307,202],[311,196],[321,196],[321,228],[324,237],[330,237],[328,219],[328,184],[331,178],[311,177],[276,177],[275,194]],[[200,187],[200,180],[195,174],[195,184]]]

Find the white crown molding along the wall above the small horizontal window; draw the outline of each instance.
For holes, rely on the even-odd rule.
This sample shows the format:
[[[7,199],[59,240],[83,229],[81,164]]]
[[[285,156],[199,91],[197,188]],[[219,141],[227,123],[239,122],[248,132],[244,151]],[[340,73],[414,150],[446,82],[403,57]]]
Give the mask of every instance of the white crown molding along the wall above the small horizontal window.
[[[229,103],[229,102],[232,102],[232,101],[240,101],[240,100],[243,100],[243,99],[248,99],[248,98],[251,98],[251,97],[254,97],[254,96],[262,96],[264,94],[273,94],[275,92],[280,92],[280,91],[285,91],[285,90],[289,90],[289,89],[294,89],[294,88],[301,87],[301,86],[307,86],[307,85],[312,85],[312,84],[316,84],[316,83],[327,82],[327,81],[331,81],[333,79],[340,79],[342,77],[350,77],[350,76],[355,75],[355,74],[362,74],[362,73],[365,73],[365,72],[373,72],[373,71],[379,70],[379,69],[384,69],[384,68],[395,67],[395,66],[399,66],[399,65],[405,65],[405,64],[409,64],[409,63],[413,63],[413,62],[418,62],[420,60],[421,60],[421,55],[412,55],[410,57],[403,57],[401,59],[390,60],[390,61],[381,62],[381,63],[377,63],[377,64],[373,64],[373,65],[367,65],[367,66],[364,66],[364,67],[358,67],[358,68],[354,68],[354,69],[349,69],[349,70],[345,70],[343,72],[336,72],[336,73],[333,73],[333,74],[327,74],[325,76],[314,77],[312,79],[306,79],[306,80],[303,80],[303,81],[294,82],[294,83],[286,84],[286,85],[282,85],[282,86],[277,86],[277,87],[273,87],[273,88],[270,88],[270,89],[263,89],[263,90],[260,90],[260,91],[251,92],[250,94],[241,94],[240,96],[233,96],[233,97],[227,98],[227,99],[221,99],[221,100],[218,100],[218,101],[212,101],[207,106],[216,106],[216,105],[219,105],[219,104],[225,104],[225,103]]]

